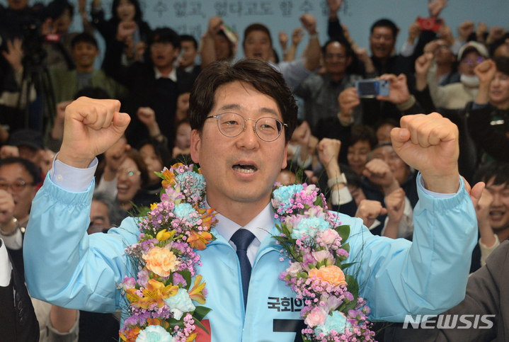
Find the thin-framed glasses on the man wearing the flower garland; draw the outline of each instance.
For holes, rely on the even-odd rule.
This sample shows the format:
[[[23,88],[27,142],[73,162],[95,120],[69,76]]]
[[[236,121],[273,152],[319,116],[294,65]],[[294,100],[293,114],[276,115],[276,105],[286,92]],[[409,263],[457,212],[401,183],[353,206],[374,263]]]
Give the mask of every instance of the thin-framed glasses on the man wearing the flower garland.
[[[254,131],[264,142],[273,142],[275,139],[278,139],[281,135],[282,127],[288,127],[287,124],[282,123],[276,118],[271,118],[270,116],[254,120],[244,119],[242,115],[237,113],[221,113],[207,116],[206,119],[210,118],[216,118],[217,128],[219,128],[219,132],[225,137],[236,137],[240,135],[241,132],[246,130],[246,121],[253,120],[255,122]]]

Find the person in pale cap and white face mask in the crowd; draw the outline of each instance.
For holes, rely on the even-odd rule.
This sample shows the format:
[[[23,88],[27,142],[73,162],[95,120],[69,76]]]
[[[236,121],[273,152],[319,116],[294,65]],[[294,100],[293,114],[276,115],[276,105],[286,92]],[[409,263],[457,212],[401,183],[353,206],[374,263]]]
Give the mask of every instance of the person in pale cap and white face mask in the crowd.
[[[428,61],[430,67],[426,82],[435,107],[458,109],[464,108],[467,103],[474,101],[479,92],[479,77],[474,73],[474,68],[488,57],[488,49],[480,42],[467,42],[459,49],[458,53],[459,82],[447,84],[447,86],[438,85],[436,60]],[[416,76],[418,77],[417,69]],[[419,86],[417,88],[421,90]]]

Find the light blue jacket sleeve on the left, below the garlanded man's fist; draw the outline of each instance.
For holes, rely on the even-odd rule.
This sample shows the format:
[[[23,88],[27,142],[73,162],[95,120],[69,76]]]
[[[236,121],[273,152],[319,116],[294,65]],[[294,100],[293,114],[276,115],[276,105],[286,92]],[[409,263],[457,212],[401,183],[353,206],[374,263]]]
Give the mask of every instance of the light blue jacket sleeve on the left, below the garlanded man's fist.
[[[88,236],[93,186],[70,193],[45,179],[25,233],[25,278],[32,297],[60,307],[115,312],[120,304],[115,284],[133,271],[124,249],[137,241],[138,229],[128,218],[108,234]]]

